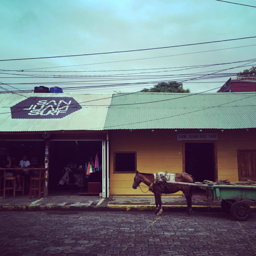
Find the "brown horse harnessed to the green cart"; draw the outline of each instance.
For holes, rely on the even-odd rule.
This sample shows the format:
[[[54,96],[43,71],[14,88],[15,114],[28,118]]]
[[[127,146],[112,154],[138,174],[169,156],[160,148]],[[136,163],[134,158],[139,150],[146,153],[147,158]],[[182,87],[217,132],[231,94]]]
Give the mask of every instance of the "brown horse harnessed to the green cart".
[[[176,182],[187,182],[187,183],[195,183],[194,178],[185,172],[176,173],[175,174],[175,181]],[[151,191],[154,193],[154,199],[156,201],[156,211],[155,213],[157,215],[162,214],[162,200],[161,200],[161,194],[173,194],[178,191],[182,191],[186,197],[187,204],[188,204],[188,213],[192,213],[192,187],[189,187],[188,185],[167,185],[165,188],[165,185],[163,182],[156,182],[154,183],[154,175],[151,173],[140,173],[136,172],[136,175],[134,177],[134,182],[132,184],[132,188],[137,189],[137,187],[140,186],[140,183],[143,182],[148,187],[151,187]]]

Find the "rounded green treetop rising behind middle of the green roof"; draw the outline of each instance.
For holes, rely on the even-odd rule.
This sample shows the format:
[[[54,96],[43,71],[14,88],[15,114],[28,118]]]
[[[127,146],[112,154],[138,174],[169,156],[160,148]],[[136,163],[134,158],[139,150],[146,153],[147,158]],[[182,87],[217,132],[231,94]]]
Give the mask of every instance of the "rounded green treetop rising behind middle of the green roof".
[[[189,89],[183,89],[182,83],[175,81],[161,82],[150,89],[141,90],[143,93],[190,93]]]

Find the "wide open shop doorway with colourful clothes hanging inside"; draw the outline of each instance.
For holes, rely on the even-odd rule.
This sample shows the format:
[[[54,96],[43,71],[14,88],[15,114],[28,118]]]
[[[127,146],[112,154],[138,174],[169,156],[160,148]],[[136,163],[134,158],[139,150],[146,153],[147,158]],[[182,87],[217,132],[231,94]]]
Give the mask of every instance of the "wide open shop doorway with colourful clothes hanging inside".
[[[49,151],[49,195],[102,192],[102,141],[50,141]],[[89,162],[93,168],[86,175]]]

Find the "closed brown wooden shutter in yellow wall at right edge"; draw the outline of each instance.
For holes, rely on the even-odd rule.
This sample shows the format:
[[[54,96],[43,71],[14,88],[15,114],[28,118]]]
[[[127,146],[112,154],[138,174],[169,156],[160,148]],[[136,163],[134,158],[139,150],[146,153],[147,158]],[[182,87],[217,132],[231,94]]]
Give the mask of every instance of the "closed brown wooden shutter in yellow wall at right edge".
[[[238,150],[239,181],[256,181],[256,150]]]

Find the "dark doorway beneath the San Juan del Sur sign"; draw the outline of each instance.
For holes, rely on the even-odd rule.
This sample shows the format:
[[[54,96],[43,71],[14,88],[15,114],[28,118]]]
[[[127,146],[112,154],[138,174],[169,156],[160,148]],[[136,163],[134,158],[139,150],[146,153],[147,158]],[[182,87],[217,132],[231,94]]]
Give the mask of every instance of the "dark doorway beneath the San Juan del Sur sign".
[[[214,181],[214,143],[185,143],[185,172],[195,181]]]

